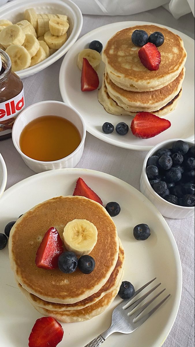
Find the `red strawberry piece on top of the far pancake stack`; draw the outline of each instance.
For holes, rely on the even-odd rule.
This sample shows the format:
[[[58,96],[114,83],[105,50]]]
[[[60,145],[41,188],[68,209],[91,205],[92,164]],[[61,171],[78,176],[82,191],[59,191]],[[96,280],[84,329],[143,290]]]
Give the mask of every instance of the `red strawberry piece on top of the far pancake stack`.
[[[148,70],[158,70],[161,62],[161,56],[155,44],[148,42],[138,51],[141,63]]]

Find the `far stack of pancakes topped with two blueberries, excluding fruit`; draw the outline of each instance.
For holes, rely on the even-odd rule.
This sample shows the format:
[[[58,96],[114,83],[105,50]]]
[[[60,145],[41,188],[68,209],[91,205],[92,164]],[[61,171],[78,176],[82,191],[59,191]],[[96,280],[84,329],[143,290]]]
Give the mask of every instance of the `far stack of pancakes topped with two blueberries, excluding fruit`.
[[[158,47],[161,63],[156,71],[148,70],[140,61],[131,40],[134,30],[161,32],[164,43]],[[166,28],[139,25],[117,32],[107,42],[102,60],[105,63],[103,83],[98,100],[114,115],[135,116],[138,112],[165,115],[175,109],[181,96],[187,53],[181,38]]]

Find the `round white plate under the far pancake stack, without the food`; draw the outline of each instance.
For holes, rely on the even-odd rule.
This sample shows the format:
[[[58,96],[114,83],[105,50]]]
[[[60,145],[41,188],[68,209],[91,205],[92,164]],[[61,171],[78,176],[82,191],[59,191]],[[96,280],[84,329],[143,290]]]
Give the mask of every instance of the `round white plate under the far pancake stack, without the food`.
[[[111,122],[116,126],[118,122],[124,121],[130,127],[133,117],[114,116],[107,113],[103,106],[98,102],[98,90],[88,93],[81,92],[81,71],[77,67],[77,56],[82,49],[88,48],[89,43],[93,40],[99,40],[102,42],[104,47],[110,37],[117,31],[130,26],[145,24],[154,23],[112,23],[92,30],[88,34],[82,36],[66,54],[61,65],[59,76],[60,91],[63,101],[70,104],[80,112],[86,122],[87,131],[90,134],[115,146],[140,151],[150,150],[154,145],[170,138],[177,137],[188,138],[190,140],[194,139],[194,103],[192,102],[192,100],[194,100],[194,40],[175,29],[165,26],[165,28],[168,28],[175,34],[181,36],[184,41],[184,46],[188,53],[185,64],[186,77],[183,83],[183,95],[178,101],[176,110],[163,117],[170,120],[171,127],[165,132],[150,139],[140,139],[135,137],[131,133],[131,130],[129,130],[128,134],[125,136],[118,135],[115,130],[109,135],[103,133],[101,127],[104,122]],[[160,26],[159,24],[154,25]],[[101,85],[103,70],[104,63],[101,62],[100,68],[98,69],[100,80],[99,86]]]

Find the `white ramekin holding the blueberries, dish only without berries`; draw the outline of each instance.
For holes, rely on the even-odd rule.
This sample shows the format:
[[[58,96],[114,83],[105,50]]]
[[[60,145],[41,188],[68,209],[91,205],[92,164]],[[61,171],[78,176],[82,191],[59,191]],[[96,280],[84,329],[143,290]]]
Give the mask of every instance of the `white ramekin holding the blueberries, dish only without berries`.
[[[173,138],[171,140],[160,142],[158,145],[154,146],[145,157],[143,162],[142,173],[140,177],[140,191],[142,192],[142,194],[144,194],[157,207],[157,209],[160,211],[160,213],[164,217],[174,218],[174,219],[191,217],[194,214],[194,207],[174,205],[166,201],[165,199],[163,199],[161,196],[159,196],[149,183],[148,177],[146,175],[146,164],[147,164],[148,158],[154,155],[154,153],[156,153],[160,148],[162,147],[171,148],[172,144],[178,140],[183,140],[187,142],[190,147],[194,146],[193,141],[182,139],[182,138],[181,139]]]

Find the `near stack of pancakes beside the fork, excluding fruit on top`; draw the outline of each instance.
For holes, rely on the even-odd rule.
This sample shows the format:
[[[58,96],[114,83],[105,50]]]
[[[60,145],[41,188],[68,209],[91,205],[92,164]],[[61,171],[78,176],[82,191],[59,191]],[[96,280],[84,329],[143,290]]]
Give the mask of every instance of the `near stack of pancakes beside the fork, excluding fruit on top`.
[[[87,219],[98,230],[90,253],[96,262],[94,271],[83,274],[77,268],[63,273],[38,268],[35,257],[45,232],[56,227],[62,238],[65,225],[73,219]],[[125,258],[105,208],[81,196],[55,197],[20,217],[10,232],[9,257],[22,293],[36,310],[67,323],[88,320],[106,310],[121,285]]]

